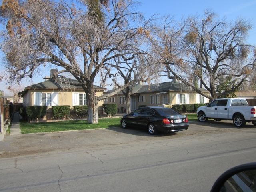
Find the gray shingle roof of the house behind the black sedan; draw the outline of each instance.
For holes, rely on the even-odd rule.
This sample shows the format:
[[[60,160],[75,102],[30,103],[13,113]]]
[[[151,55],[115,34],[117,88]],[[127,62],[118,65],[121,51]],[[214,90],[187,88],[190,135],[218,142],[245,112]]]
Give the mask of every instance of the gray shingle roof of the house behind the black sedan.
[[[203,92],[208,92],[208,90],[206,89],[202,89],[202,88],[198,88],[198,89]],[[147,92],[169,92],[169,91],[189,92],[189,91],[192,91],[192,89],[188,86],[185,86],[182,83],[170,81],[170,82],[156,83],[151,85],[137,84],[134,87],[132,94],[141,94],[141,93],[147,93]],[[114,92],[114,90],[110,90],[109,92]],[[118,94],[122,94],[122,92],[119,92]]]

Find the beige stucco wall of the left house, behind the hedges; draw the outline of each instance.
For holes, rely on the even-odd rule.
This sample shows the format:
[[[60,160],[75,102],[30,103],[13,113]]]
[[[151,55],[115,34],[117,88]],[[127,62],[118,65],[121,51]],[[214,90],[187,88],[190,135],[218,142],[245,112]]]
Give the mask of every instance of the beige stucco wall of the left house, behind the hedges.
[[[53,93],[53,92],[58,92],[58,105],[70,105],[70,108],[72,109],[72,93],[73,92],[77,92],[77,93],[84,93],[83,90],[75,90],[73,92],[59,92],[58,90],[45,90],[45,89],[36,89],[36,90],[28,90],[28,92],[26,93],[26,95],[28,96],[28,104],[26,104],[26,102],[24,103],[24,106],[34,106],[34,96],[35,96],[35,92],[41,92],[41,93]],[[96,91],[96,96],[101,96],[103,94],[102,90],[97,90]],[[102,111],[103,107],[102,107],[103,101],[101,100],[98,103],[98,111]],[[52,111],[52,107],[48,107],[47,108],[47,112],[51,112]]]

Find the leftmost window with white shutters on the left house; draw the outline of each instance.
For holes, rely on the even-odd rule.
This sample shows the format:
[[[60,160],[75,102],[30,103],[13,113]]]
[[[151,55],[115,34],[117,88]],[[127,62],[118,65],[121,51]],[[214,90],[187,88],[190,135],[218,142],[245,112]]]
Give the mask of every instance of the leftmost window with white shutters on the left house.
[[[34,105],[55,106],[58,105],[58,93],[34,93]]]

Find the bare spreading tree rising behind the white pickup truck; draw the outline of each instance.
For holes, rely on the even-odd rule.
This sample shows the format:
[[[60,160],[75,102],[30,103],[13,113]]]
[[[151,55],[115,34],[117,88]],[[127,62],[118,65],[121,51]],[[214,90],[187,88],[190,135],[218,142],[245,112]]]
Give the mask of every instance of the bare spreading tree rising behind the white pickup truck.
[[[245,43],[251,29],[247,20],[238,18],[228,23],[206,10],[202,17],[192,16],[181,25],[169,22],[166,26],[170,30],[162,29],[165,38],[159,38],[166,53],[160,62],[166,65],[169,78],[177,78],[210,100],[236,91],[255,69],[255,48]],[[234,84],[217,92],[218,81],[226,76],[232,77]],[[210,96],[195,86],[197,79]]]

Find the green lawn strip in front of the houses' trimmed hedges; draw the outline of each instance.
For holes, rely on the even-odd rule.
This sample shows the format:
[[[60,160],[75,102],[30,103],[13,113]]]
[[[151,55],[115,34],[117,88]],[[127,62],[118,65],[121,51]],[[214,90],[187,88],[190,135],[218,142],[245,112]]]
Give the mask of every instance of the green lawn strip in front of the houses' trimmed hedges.
[[[197,120],[196,114],[187,114],[188,122]],[[120,118],[99,119],[98,124],[87,124],[86,120],[28,123],[20,121],[21,133],[41,133],[82,129],[120,127]]]

